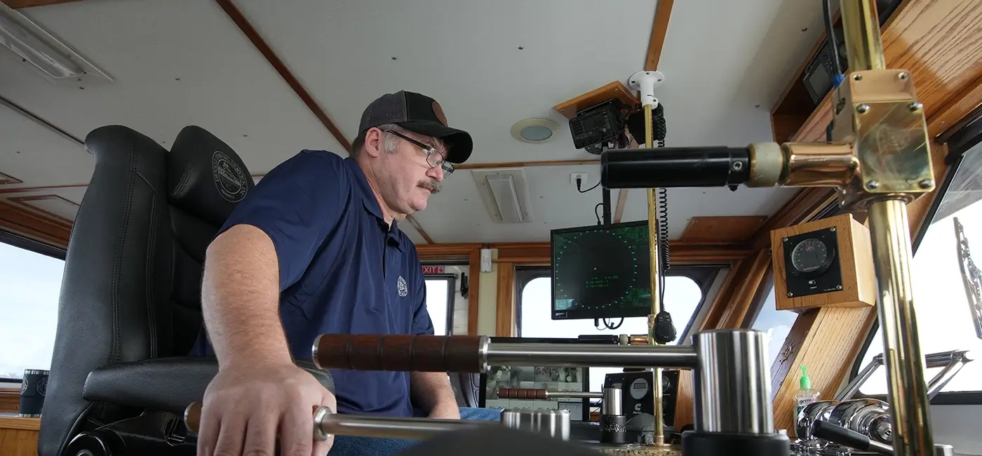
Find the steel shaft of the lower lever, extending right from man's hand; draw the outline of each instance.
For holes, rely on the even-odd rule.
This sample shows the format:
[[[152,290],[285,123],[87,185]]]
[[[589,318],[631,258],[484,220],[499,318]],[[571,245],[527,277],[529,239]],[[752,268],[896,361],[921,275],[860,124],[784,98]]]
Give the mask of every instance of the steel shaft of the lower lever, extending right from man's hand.
[[[425,440],[441,432],[486,426],[501,425],[496,422],[472,420],[337,415],[327,407],[318,408],[314,414],[314,438],[318,440],[324,440],[332,434]]]

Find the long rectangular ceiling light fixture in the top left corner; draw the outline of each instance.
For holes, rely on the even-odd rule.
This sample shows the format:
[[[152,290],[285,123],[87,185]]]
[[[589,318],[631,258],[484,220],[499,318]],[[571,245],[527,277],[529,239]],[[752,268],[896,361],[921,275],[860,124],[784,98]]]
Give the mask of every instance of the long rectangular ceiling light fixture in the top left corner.
[[[112,81],[67,44],[3,2],[0,2],[0,46],[15,54],[12,59],[55,82]]]

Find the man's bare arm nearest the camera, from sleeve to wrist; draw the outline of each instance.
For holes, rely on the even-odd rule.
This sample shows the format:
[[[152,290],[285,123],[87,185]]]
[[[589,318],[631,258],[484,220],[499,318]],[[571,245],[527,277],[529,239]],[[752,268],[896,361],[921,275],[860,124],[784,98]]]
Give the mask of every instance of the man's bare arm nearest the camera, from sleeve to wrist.
[[[291,362],[279,301],[279,261],[265,233],[237,225],[212,242],[201,282],[201,312],[219,366]]]

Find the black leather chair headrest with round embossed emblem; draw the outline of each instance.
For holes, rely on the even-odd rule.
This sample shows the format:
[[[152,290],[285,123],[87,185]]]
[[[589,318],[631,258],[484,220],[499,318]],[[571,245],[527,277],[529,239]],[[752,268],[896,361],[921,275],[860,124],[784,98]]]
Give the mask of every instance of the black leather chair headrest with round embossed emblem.
[[[229,144],[201,127],[181,130],[167,158],[171,204],[221,225],[255,183]]]

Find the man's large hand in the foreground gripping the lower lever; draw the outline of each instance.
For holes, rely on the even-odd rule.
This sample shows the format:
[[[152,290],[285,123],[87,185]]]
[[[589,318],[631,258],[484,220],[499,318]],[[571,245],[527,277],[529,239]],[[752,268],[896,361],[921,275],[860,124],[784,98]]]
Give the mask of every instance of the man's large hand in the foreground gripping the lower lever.
[[[232,365],[219,369],[204,392],[198,455],[323,456],[333,439],[314,441],[313,411],[338,410],[337,399],[293,363]]]

